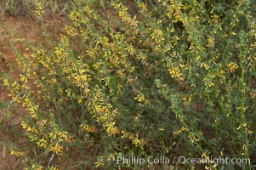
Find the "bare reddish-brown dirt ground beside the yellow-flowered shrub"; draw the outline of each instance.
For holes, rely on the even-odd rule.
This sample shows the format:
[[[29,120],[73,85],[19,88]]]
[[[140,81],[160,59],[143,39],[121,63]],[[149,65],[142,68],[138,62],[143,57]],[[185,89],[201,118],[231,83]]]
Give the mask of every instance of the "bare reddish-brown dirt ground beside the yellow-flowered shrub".
[[[48,17],[43,25],[47,26],[48,30],[53,33],[53,38],[56,38],[63,32],[62,25],[65,21],[61,17]],[[15,60],[14,49],[10,42],[13,42],[14,47],[18,48],[21,53],[25,52],[26,47],[20,45],[17,37],[37,44],[38,37],[42,37],[43,25],[29,16],[0,18],[0,77],[3,77],[3,73],[7,73],[14,81],[20,82],[20,68]],[[10,101],[8,90],[0,86],[0,170],[22,169],[19,158],[9,154],[8,146],[9,142],[17,144],[21,148],[26,144],[26,139],[22,137],[24,134],[17,133],[15,139],[13,135],[10,135],[19,131],[20,116],[24,114],[22,106],[17,104],[10,105],[7,110]]]

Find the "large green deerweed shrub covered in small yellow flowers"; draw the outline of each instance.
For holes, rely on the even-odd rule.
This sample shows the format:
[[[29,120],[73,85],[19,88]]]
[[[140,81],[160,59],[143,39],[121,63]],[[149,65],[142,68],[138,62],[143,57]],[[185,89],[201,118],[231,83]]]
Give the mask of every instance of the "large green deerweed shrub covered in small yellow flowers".
[[[73,2],[65,35],[17,54],[21,83],[3,80],[27,113],[30,150],[13,154],[27,169],[57,169],[54,156],[104,169],[138,168],[117,156],[251,158],[203,165],[249,169],[255,18],[253,1],[231,2],[111,1],[108,14]]]

